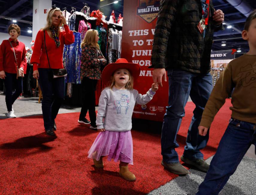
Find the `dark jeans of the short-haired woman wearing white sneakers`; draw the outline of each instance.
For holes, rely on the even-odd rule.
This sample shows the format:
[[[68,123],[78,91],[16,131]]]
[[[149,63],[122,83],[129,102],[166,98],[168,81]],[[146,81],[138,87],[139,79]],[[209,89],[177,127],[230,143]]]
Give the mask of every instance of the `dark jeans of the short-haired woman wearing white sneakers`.
[[[18,77],[16,73],[5,73],[6,77],[4,79],[4,87],[6,88],[5,93],[5,103],[7,106],[7,111],[12,110],[12,105],[15,100],[22,93],[22,77]],[[15,92],[13,93],[13,87]]]

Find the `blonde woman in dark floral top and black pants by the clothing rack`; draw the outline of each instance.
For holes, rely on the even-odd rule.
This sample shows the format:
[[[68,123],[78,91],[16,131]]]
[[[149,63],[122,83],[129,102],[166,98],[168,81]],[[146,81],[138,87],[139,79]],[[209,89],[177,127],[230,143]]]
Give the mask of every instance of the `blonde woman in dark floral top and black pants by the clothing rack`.
[[[99,48],[99,34],[97,30],[87,30],[84,40],[81,43],[81,81],[82,81],[82,108],[79,116],[79,123],[91,124],[91,129],[97,129],[95,112],[95,90],[98,80],[101,78],[101,65],[106,65]],[[89,111],[90,121],[85,118]]]

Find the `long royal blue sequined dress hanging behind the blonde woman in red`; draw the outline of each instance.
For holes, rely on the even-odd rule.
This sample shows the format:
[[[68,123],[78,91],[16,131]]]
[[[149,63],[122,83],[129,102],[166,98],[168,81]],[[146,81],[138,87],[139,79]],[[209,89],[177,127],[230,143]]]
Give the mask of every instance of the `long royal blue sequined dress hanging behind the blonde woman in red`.
[[[63,65],[67,69],[67,83],[81,84],[81,33],[73,32],[75,42],[64,46]]]

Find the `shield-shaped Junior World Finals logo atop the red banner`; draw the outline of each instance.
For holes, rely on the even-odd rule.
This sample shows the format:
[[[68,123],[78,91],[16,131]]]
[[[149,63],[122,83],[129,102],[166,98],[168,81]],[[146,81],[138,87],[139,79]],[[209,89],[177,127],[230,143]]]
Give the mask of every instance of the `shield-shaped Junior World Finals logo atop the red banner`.
[[[160,0],[140,0],[137,15],[150,23],[158,16],[159,4]]]

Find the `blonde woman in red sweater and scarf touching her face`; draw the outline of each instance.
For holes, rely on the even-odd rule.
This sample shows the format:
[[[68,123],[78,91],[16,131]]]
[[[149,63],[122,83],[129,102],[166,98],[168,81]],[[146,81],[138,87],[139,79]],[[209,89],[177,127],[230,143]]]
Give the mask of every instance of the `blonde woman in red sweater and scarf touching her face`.
[[[56,130],[54,120],[65,96],[65,78],[64,76],[53,78],[51,69],[63,68],[64,44],[72,44],[75,39],[59,8],[51,8],[46,20],[46,26],[37,33],[30,62],[33,64],[33,76],[38,79],[43,94],[44,128],[47,135],[54,136],[53,130]],[[65,30],[60,29],[62,24]],[[49,62],[44,46],[44,32]]]

